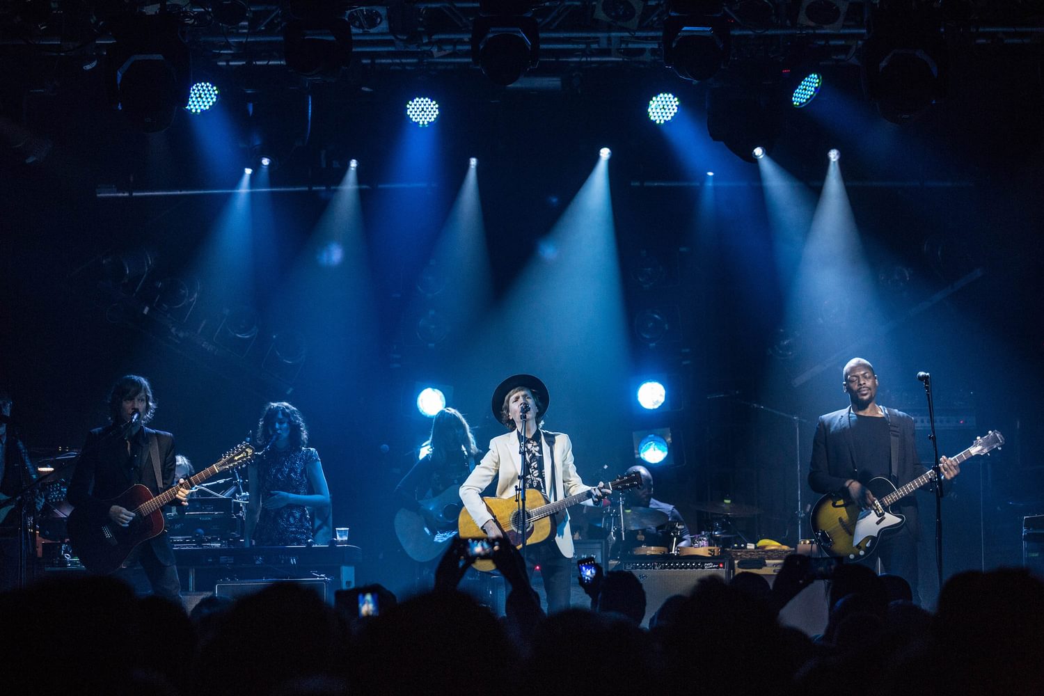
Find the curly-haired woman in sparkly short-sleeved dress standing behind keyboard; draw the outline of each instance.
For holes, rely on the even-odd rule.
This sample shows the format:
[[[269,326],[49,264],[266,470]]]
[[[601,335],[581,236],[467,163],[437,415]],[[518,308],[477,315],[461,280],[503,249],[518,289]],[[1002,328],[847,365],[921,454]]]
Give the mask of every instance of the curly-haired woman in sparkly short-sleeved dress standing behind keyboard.
[[[326,544],[313,520],[329,520],[330,489],[318,453],[308,447],[301,411],[286,402],[268,404],[258,422],[258,447],[267,447],[247,466],[247,546]]]

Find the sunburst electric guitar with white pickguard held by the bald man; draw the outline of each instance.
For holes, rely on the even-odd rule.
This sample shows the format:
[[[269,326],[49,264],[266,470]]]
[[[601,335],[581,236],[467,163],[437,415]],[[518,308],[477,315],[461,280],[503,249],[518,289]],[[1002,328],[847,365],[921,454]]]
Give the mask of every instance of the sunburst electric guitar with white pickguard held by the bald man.
[[[978,454],[1000,449],[1004,436],[991,430],[960,454],[950,457],[958,464]],[[828,494],[812,508],[812,532],[820,548],[831,556],[849,560],[865,560],[877,550],[881,534],[897,531],[906,521],[891,509],[893,503],[935,480],[935,471],[928,470],[901,488],[884,477],[871,479],[865,485],[874,494],[874,504],[865,509],[843,496]]]

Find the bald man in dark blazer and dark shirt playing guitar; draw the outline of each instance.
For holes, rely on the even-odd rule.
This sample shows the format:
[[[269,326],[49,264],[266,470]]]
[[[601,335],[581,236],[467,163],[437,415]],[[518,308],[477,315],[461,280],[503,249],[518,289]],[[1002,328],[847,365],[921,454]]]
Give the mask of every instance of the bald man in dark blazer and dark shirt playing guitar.
[[[875,502],[865,484],[881,477],[902,487],[925,473],[914,440],[914,418],[877,404],[879,386],[874,366],[862,358],[852,358],[843,370],[841,388],[851,404],[820,416],[812,440],[812,461],[808,484],[820,494],[838,495],[867,509]],[[943,476],[960,473],[956,462],[940,459]],[[914,495],[896,504],[905,524],[879,541],[878,558],[883,571],[900,575],[918,597],[918,505]]]

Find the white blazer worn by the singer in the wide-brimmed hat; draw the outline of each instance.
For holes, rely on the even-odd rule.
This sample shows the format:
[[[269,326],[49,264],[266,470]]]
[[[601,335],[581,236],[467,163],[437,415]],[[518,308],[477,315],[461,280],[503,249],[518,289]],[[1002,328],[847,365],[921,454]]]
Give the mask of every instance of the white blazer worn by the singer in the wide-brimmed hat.
[[[553,452],[547,446],[547,437],[554,440]],[[540,439],[544,449],[544,490],[548,493],[551,502],[575,496],[590,488],[576,474],[573,462],[573,443],[565,433],[545,433],[540,431]],[[553,457],[551,456],[553,454]],[[554,465],[551,465],[551,462]],[[519,482],[522,471],[519,458],[518,431],[499,435],[490,440],[490,451],[482,461],[472,470],[468,479],[460,485],[460,501],[468,508],[472,519],[479,527],[493,519],[482,502],[482,491],[497,477],[497,498],[514,498],[515,486]],[[552,476],[552,471],[554,475]],[[499,476],[498,476],[499,474]],[[553,488],[552,488],[553,479]],[[588,501],[587,504],[590,504]],[[573,535],[569,528],[569,511],[557,515],[559,526],[554,531],[554,543],[566,558],[573,557]]]

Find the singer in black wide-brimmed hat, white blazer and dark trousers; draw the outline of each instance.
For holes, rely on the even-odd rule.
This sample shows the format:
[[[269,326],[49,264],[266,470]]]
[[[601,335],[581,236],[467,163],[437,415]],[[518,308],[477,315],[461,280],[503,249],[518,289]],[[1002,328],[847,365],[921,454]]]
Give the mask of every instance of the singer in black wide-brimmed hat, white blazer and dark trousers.
[[[573,496],[590,488],[576,473],[573,446],[569,435],[542,429],[543,417],[550,401],[547,387],[532,375],[514,375],[500,383],[493,392],[493,414],[507,428],[507,433],[490,440],[490,451],[460,486],[460,500],[478,525],[490,537],[503,536],[503,530],[482,502],[482,490],[497,479],[496,497],[515,497],[522,461],[519,454],[519,428],[526,411],[525,463],[528,487],[540,490],[549,501]],[[601,482],[594,488],[600,500],[610,489]],[[547,593],[548,613],[569,608],[569,582],[572,576],[573,537],[569,514],[562,512],[547,539],[526,551],[526,567],[530,577],[540,566]]]

